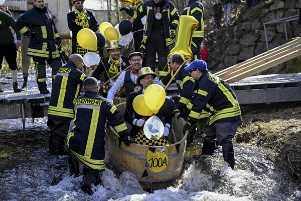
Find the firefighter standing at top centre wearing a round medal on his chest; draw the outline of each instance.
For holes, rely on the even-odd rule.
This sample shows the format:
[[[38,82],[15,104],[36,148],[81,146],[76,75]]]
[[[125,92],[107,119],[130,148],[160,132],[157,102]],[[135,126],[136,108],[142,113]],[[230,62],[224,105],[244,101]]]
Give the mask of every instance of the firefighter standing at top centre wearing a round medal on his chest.
[[[153,71],[156,69],[156,53],[158,54],[158,69],[160,76],[169,73],[167,67],[169,45],[173,44],[176,29],[179,25],[179,14],[175,5],[168,0],[150,0],[142,4],[138,11],[123,7],[119,11],[125,11],[133,19],[146,16],[144,30],[144,44],[146,51],[146,65]]]

